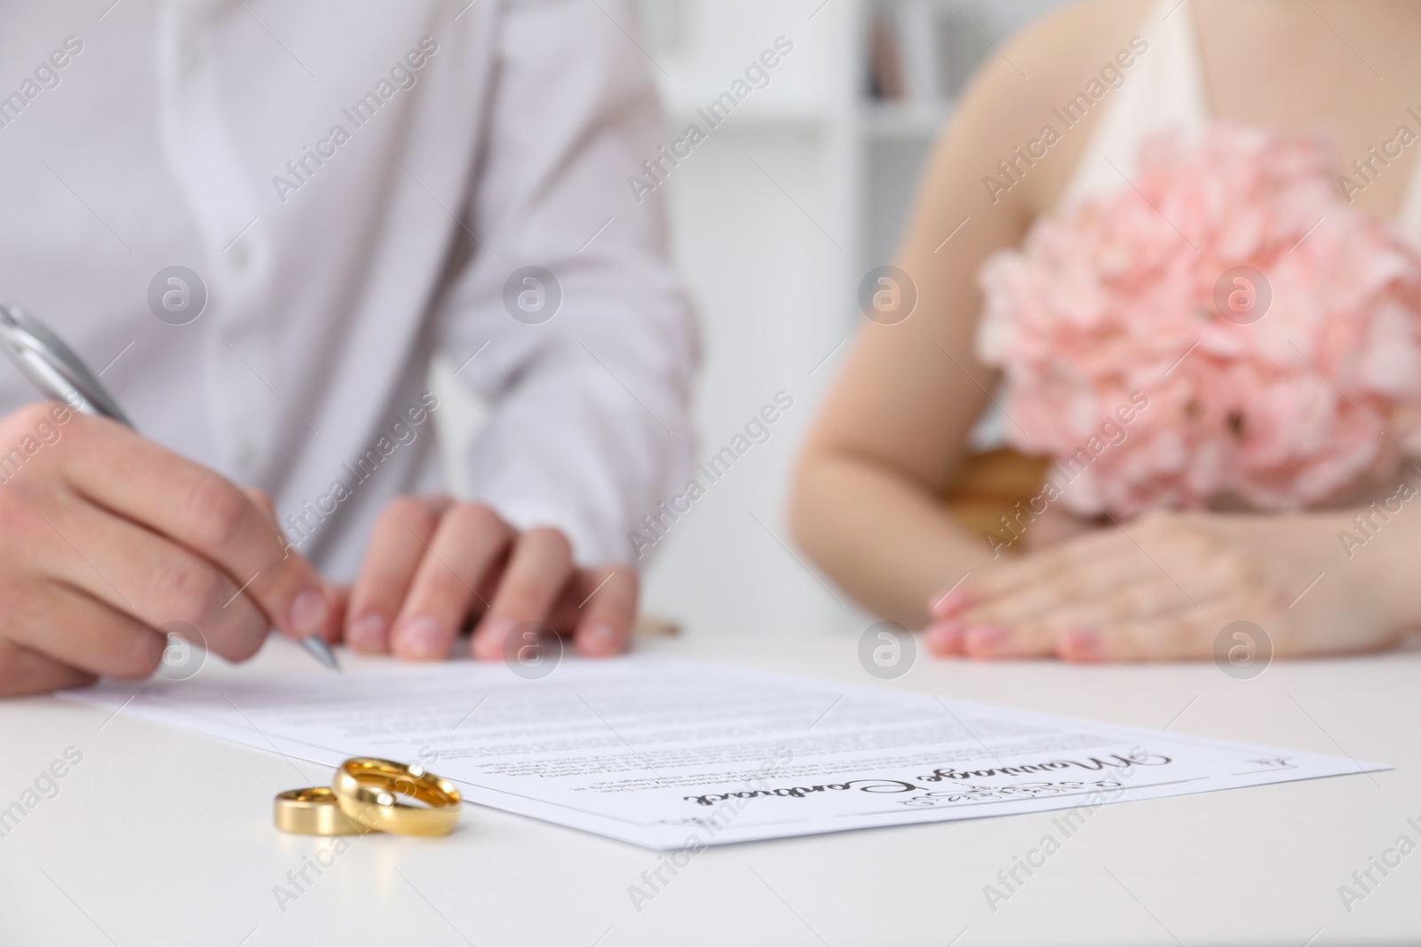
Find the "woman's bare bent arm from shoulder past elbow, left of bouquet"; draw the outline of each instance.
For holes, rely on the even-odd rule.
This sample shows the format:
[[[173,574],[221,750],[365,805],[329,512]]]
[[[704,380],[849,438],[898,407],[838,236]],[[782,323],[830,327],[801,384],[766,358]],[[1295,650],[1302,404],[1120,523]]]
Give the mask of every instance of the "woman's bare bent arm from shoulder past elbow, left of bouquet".
[[[921,626],[934,593],[993,565],[941,500],[998,381],[972,354],[976,273],[1059,199],[1106,101],[1070,129],[1052,108],[1128,47],[1142,13],[1138,0],[1104,0],[1037,21],[980,71],[928,163],[897,261],[917,310],[897,325],[865,321],[800,459],[790,511],[800,545],[880,615]],[[989,195],[982,179],[1006,180],[998,162],[1047,122],[1061,139]]]

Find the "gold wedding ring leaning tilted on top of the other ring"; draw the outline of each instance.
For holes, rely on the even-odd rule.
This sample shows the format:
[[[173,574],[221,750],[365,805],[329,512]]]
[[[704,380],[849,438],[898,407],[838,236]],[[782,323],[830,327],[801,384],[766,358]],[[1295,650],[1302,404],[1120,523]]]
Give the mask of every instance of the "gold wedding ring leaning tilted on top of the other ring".
[[[355,757],[341,764],[331,792],[350,819],[396,835],[446,835],[459,822],[462,797],[452,782],[423,767]],[[426,806],[399,802],[412,797]]]

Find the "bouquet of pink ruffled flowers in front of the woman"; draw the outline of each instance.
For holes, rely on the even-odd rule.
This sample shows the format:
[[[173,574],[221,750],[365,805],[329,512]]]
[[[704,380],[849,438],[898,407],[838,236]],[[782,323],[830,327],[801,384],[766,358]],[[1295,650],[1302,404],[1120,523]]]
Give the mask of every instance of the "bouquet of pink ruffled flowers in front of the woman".
[[[1297,510],[1421,449],[1421,256],[1336,175],[1322,138],[1162,135],[1134,186],[986,261],[978,354],[1013,446],[1076,459],[1061,503]]]

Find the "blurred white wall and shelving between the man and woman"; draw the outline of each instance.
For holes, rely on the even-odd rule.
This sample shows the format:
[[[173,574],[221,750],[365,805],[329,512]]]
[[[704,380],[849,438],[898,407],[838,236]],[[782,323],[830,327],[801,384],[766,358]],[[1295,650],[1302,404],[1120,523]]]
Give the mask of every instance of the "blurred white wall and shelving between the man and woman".
[[[794,399],[772,439],[658,542],[645,612],[684,633],[858,633],[875,620],[789,537],[794,457],[863,319],[858,283],[892,260],[953,95],[996,45],[1060,1],[638,1],[627,54],[645,58],[661,88],[666,142],[691,122],[708,129],[662,186],[702,317],[698,459],[726,446],[776,392]],[[696,109],[782,35],[793,51],[769,85],[709,129]],[[465,405],[462,425],[442,432],[455,449],[476,415]]]

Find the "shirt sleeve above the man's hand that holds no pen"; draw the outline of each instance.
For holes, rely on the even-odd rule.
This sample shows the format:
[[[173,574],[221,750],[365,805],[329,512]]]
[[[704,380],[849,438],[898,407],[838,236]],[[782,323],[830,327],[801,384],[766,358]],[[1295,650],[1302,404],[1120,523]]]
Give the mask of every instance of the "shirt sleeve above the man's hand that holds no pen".
[[[696,319],[664,192],[648,190],[665,128],[628,7],[506,6],[460,234],[472,254],[436,327],[490,407],[473,498],[520,530],[560,528],[583,565],[638,564],[630,531],[685,483],[693,449]]]

